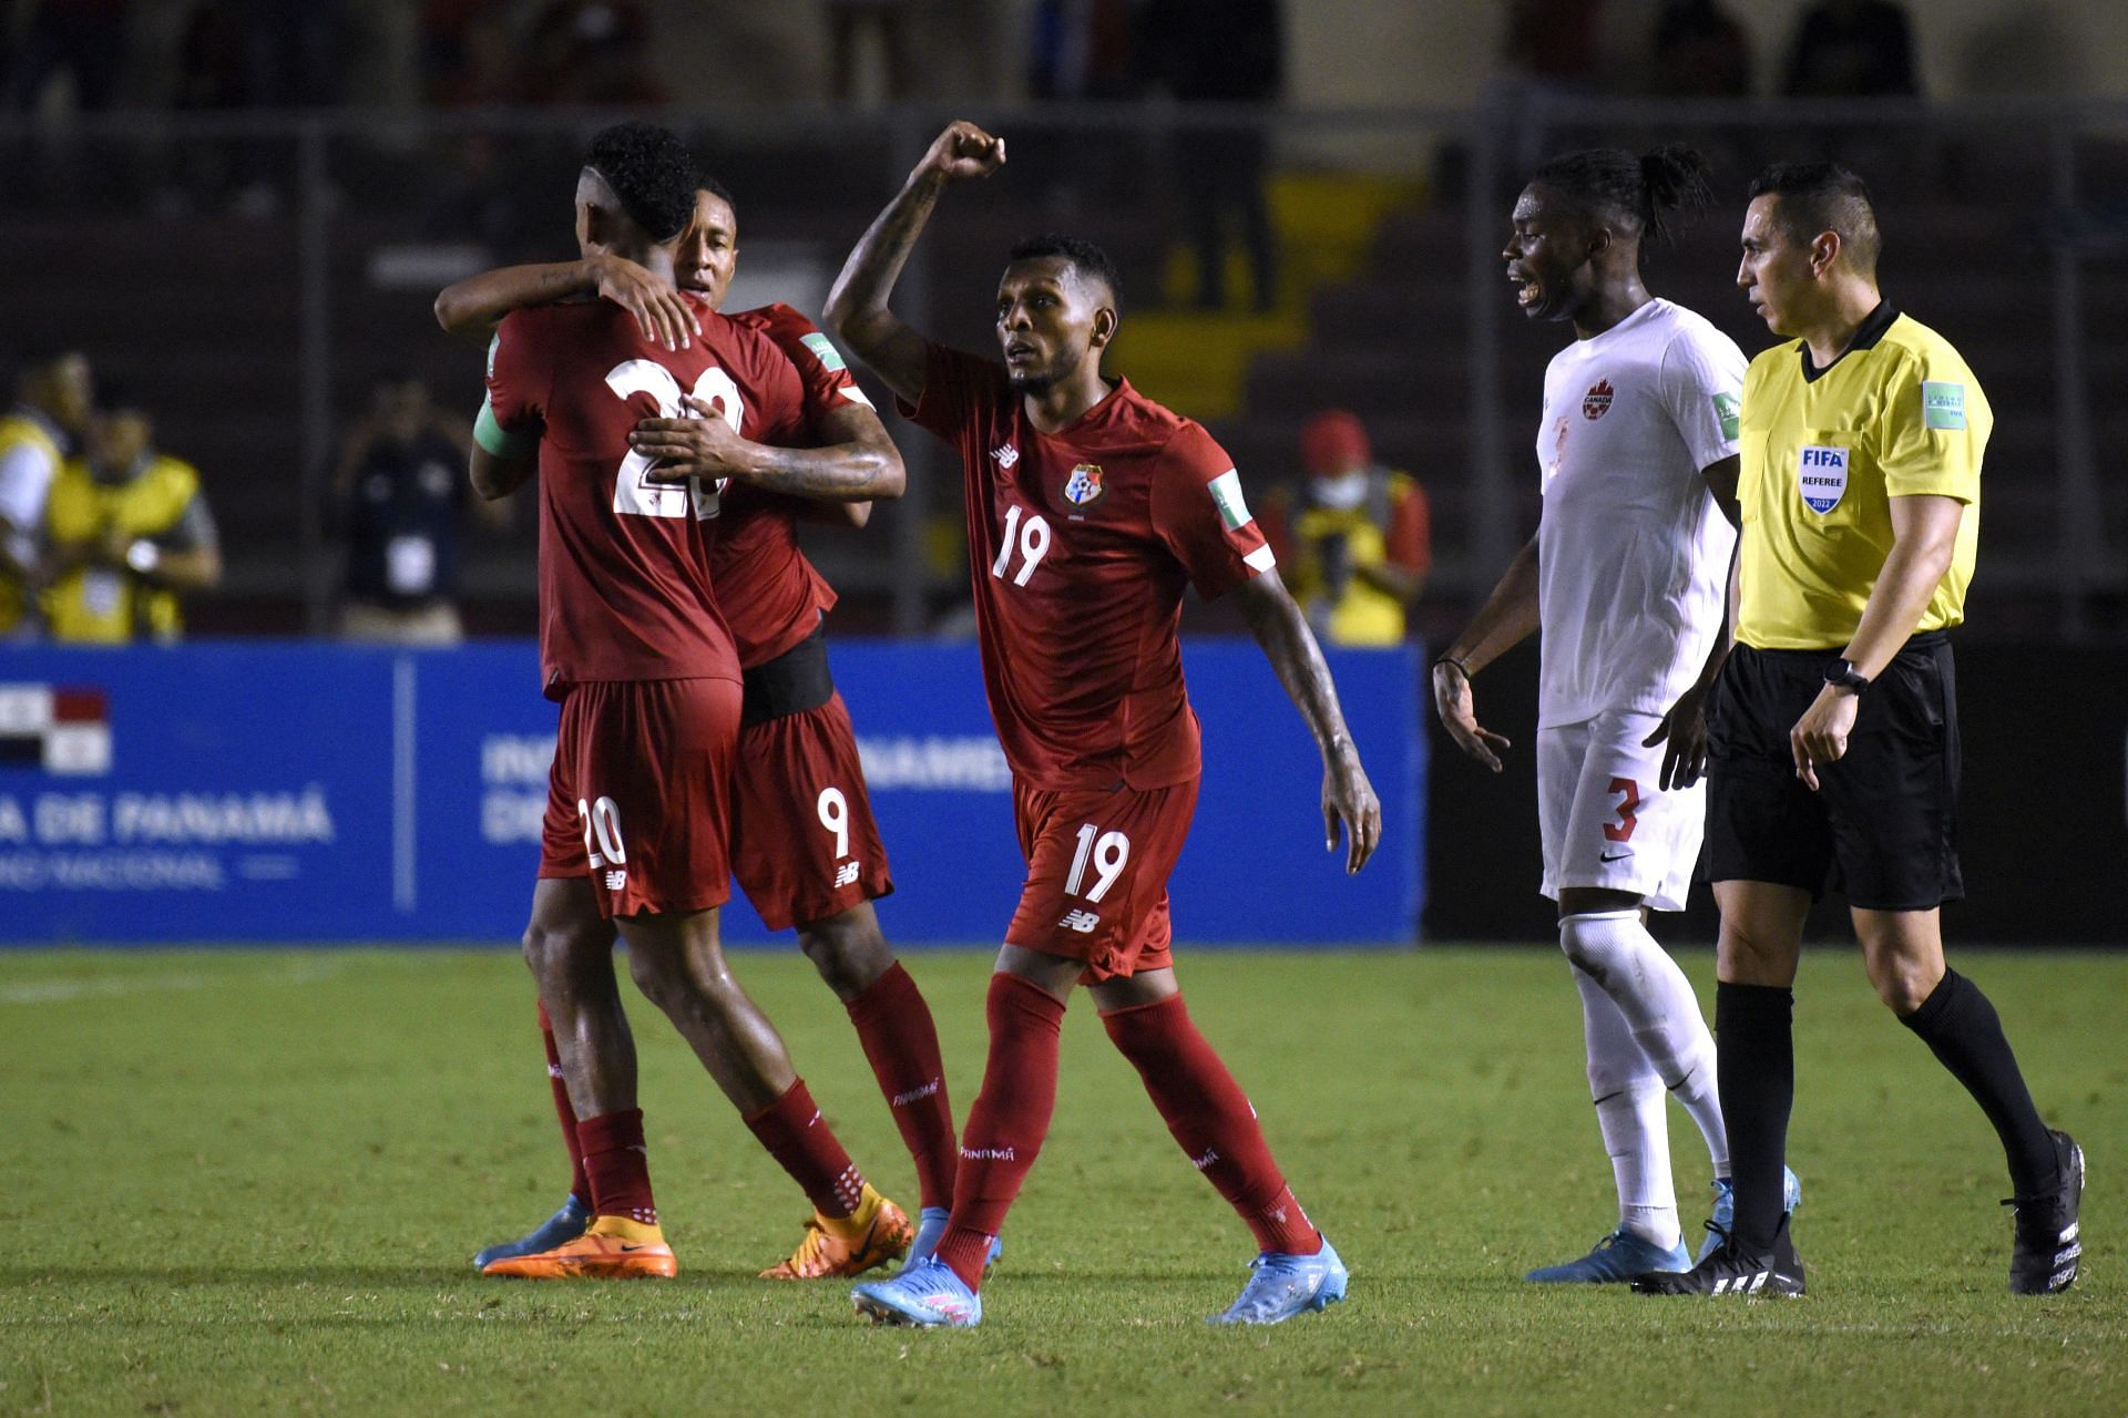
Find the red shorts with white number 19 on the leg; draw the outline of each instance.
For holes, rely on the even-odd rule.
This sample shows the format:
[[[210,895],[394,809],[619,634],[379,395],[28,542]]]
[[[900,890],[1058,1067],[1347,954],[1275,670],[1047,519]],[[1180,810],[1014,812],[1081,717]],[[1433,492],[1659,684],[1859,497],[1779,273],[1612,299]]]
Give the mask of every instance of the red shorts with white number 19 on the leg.
[[[1183,855],[1198,780],[1136,793],[1013,784],[1028,884],[1004,944],[1085,961],[1085,984],[1166,969],[1168,876]]]

